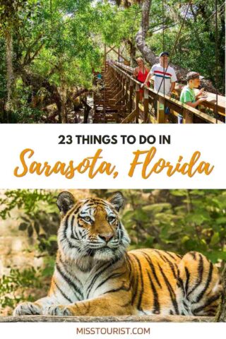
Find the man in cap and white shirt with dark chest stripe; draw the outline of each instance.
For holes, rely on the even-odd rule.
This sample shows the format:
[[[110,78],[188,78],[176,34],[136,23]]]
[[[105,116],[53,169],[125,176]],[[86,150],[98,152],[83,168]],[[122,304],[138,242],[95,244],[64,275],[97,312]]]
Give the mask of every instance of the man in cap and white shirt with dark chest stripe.
[[[162,94],[172,95],[172,92],[175,88],[177,81],[177,76],[174,69],[169,66],[169,53],[162,52],[160,54],[160,64],[155,64],[150,69],[148,76],[145,80],[144,85],[147,85],[150,78],[154,76],[154,90]],[[160,103],[162,100],[160,100]],[[169,109],[165,109],[165,114],[169,114]],[[167,117],[165,117],[165,122],[167,122]]]

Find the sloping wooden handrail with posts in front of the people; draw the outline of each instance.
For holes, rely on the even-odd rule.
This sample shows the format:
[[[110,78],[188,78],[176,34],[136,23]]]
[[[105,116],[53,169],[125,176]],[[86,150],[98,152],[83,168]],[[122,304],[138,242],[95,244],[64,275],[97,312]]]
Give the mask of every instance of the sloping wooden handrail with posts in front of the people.
[[[209,114],[206,114],[205,112],[201,112],[198,109],[195,109],[193,107],[190,107],[189,105],[183,104],[182,102],[179,102],[179,100],[174,99],[172,97],[168,97],[167,95],[164,95],[162,93],[157,93],[157,91],[151,89],[151,88],[145,88],[144,90],[144,100],[143,105],[141,102],[139,102],[139,90],[141,88],[141,83],[137,81],[133,76],[130,74],[133,73],[133,69],[131,67],[122,65],[118,62],[109,62],[107,61],[107,66],[109,66],[112,71],[114,71],[115,76],[117,78],[117,81],[120,85],[122,85],[121,90],[124,93],[125,96],[128,97],[128,95],[133,97],[133,114],[132,116],[136,116],[136,122],[138,122],[138,115],[139,112],[144,113],[144,119],[143,122],[148,121],[153,123],[163,123],[165,119],[164,109],[161,109],[160,107],[160,100],[161,102],[164,102],[165,107],[170,108],[170,112],[174,115],[174,117],[177,117],[178,115],[181,115],[183,117],[183,123],[190,124],[194,122],[194,117],[198,118],[201,122],[208,122],[209,124],[215,124],[216,122],[218,124],[222,124],[223,122],[218,120],[216,121],[215,117],[211,117]],[[129,74],[130,73],[130,74]],[[124,79],[124,81],[123,81]],[[126,85],[126,83],[129,82],[129,85]],[[136,94],[134,93],[134,87],[136,88]],[[126,91],[126,93],[125,93]],[[131,93],[132,91],[132,93]],[[157,98],[156,98],[157,97]],[[153,114],[150,114],[151,109],[153,108],[153,102],[157,102],[157,114],[156,117],[153,116]],[[149,117],[149,118],[148,118]],[[129,122],[129,119],[125,119],[123,122]],[[199,121],[199,122],[200,122]]]

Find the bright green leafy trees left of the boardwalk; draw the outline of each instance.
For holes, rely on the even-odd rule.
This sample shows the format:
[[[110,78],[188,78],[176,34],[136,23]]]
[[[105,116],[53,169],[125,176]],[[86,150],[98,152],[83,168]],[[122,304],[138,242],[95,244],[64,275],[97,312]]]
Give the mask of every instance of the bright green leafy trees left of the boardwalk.
[[[61,114],[63,88],[69,89],[69,102],[79,88],[92,88],[93,70],[99,69],[102,62],[95,38],[97,11],[91,0],[28,0],[26,6],[19,6],[21,1],[12,2],[8,1],[7,11],[4,8],[0,14],[4,29],[13,36],[13,80],[21,83],[13,90],[10,122],[43,122],[43,108],[48,105],[57,105],[54,109]],[[0,52],[4,60],[6,50],[1,43]],[[6,69],[1,66],[0,86],[4,105]],[[6,114],[2,110],[0,105],[0,119],[4,122]]]

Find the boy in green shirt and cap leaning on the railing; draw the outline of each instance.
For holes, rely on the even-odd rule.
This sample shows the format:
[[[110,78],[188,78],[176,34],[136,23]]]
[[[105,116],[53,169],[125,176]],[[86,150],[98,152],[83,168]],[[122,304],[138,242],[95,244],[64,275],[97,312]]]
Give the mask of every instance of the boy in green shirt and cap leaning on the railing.
[[[205,97],[200,97],[203,94],[203,88],[198,92],[197,95],[195,95],[194,88],[198,88],[200,85],[201,79],[203,79],[203,76],[200,76],[197,72],[189,72],[186,75],[186,81],[187,85],[184,86],[180,101],[183,102],[186,105],[189,105],[191,107],[196,108],[201,102],[205,101]],[[179,115],[179,124],[182,123],[183,117]]]

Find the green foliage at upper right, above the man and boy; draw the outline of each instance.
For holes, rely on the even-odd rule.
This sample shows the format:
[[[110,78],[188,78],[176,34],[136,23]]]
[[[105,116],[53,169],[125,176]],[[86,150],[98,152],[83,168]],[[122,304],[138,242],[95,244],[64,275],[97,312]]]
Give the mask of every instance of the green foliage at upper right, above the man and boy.
[[[165,1],[165,34],[164,41],[162,30],[156,30],[157,20],[162,20],[162,1],[155,0],[151,12],[151,29],[148,43],[156,54],[163,49],[172,51],[174,42],[177,40],[179,29],[182,26],[188,1]],[[225,9],[224,1],[218,1],[218,64],[216,69],[215,60],[215,1],[195,0],[192,1],[184,27],[179,36],[177,47],[172,56],[172,62],[190,71],[198,71],[215,84],[216,72],[220,79],[219,90],[225,93],[224,60],[225,60]]]

